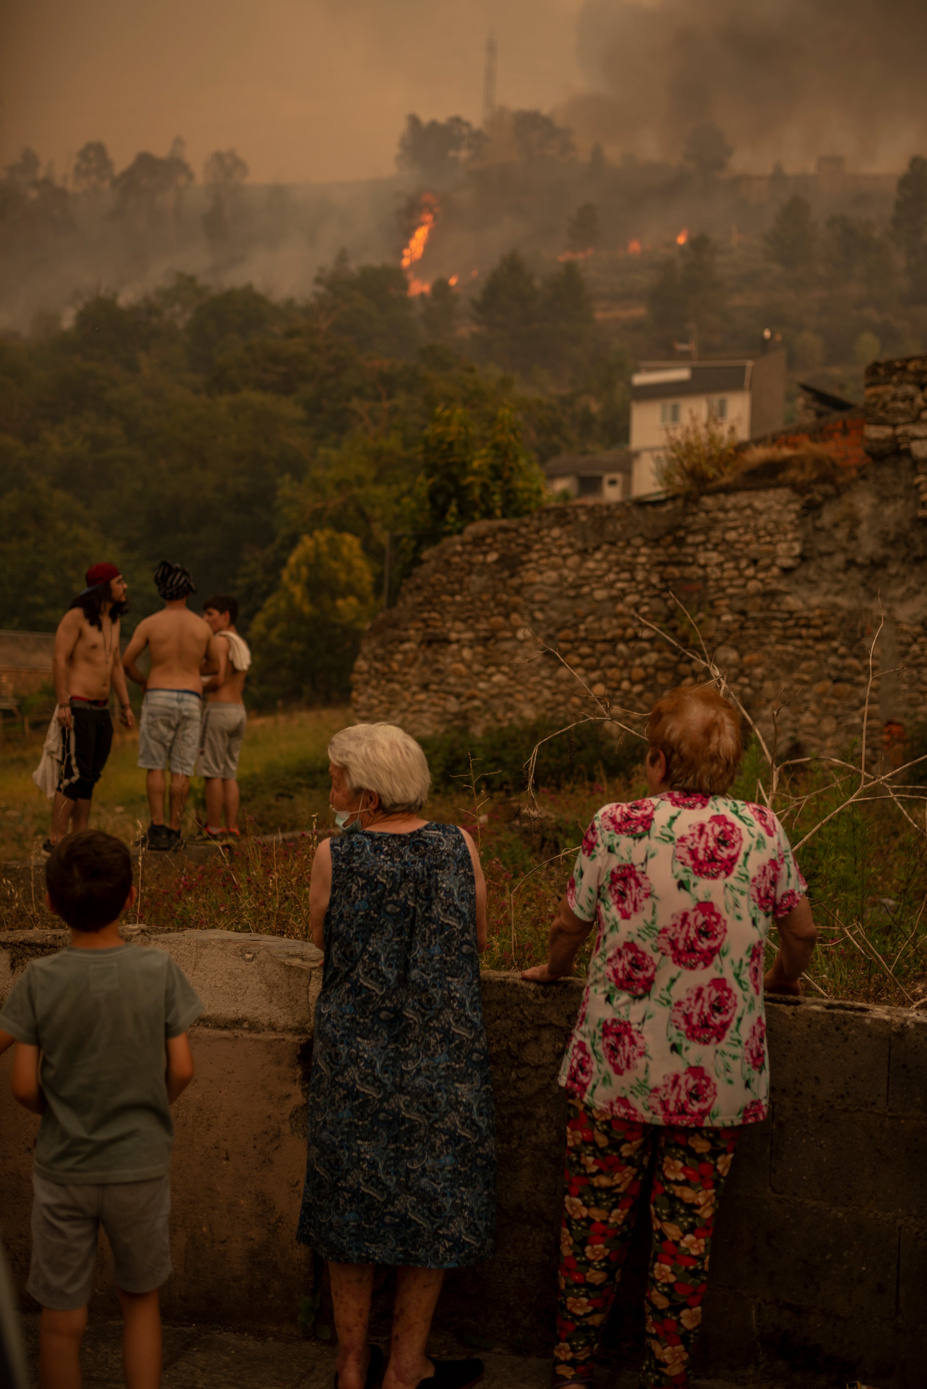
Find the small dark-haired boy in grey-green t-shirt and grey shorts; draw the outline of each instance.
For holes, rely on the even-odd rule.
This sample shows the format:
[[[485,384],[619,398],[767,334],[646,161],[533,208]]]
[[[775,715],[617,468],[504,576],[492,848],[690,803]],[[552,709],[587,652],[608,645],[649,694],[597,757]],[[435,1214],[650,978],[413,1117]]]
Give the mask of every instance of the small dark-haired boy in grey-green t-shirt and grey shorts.
[[[79,1350],[106,1229],[122,1308],[129,1389],[161,1378],[158,1288],[171,1272],[171,1104],[193,1079],[186,1029],[203,1011],[163,950],[125,945],[132,860],[100,831],[63,839],[47,903],[71,946],[33,960],[0,1010],[14,1040],[13,1093],[42,1115],[32,1185],[28,1290],[42,1304],[42,1389],[81,1382]]]

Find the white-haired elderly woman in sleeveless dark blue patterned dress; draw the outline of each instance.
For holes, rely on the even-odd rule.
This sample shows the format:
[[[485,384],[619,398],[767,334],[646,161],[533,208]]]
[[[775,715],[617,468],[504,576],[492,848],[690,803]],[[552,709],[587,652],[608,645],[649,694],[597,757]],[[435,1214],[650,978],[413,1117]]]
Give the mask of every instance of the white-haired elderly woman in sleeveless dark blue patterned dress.
[[[328,1260],[336,1389],[464,1389],[479,1360],[425,1354],[446,1268],[495,1251],[495,1117],[479,993],[486,889],[475,845],[425,821],[425,754],[392,724],[328,746],[343,831],[318,846],[325,951],[297,1239]],[[389,1364],[368,1346],[374,1265],[397,1268]]]

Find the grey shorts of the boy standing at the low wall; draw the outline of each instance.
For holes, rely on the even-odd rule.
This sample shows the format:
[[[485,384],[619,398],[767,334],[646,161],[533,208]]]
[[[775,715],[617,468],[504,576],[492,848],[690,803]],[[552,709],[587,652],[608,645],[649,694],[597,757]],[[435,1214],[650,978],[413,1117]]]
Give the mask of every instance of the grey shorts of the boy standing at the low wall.
[[[150,1293],[171,1272],[171,1178],[113,1186],[60,1186],[32,1174],[32,1264],[26,1290],[42,1307],[72,1311],[93,1292],[100,1225],[115,1264],[115,1285]]]

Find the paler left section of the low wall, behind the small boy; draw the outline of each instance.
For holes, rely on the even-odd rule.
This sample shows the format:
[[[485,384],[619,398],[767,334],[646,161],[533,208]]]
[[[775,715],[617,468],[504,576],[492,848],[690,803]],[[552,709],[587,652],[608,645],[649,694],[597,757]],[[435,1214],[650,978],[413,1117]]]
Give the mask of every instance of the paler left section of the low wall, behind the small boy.
[[[206,1004],[192,1031],[196,1078],[174,1108],[165,1320],[295,1326],[311,1285],[311,1256],[293,1233],[306,1168],[303,1050],[321,954],[225,931],[126,933],[170,950]],[[29,958],[64,943],[63,931],[0,935],[0,999]],[[39,1120],[10,1096],[11,1058],[0,1058],[0,1232],[22,1286]],[[107,1249],[93,1286],[92,1311],[118,1315]]]

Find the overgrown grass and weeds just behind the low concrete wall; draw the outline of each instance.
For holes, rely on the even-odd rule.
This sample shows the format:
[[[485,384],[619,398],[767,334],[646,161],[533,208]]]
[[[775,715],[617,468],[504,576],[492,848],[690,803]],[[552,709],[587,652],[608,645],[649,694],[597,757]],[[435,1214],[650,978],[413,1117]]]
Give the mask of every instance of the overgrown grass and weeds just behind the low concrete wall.
[[[307,939],[311,861],[318,833],[328,832],[332,824],[325,746],[347,718],[346,710],[253,718],[240,768],[242,807],[250,835],[227,858],[186,865],[170,883],[146,882],[143,868],[139,920],[163,929],[224,928]],[[517,797],[509,793],[516,782],[511,768],[504,764],[503,776],[491,775],[496,771],[493,761],[504,761],[504,746],[495,749],[502,757],[493,760],[489,756],[493,747],[474,743],[479,754],[475,786],[466,743],[445,739],[441,749],[429,750],[438,786],[424,814],[463,824],[479,842],[489,889],[486,968],[524,968],[546,957],[550,920],[592,814],[610,800],[646,793],[641,768],[625,761],[607,775],[607,760],[599,758],[589,772],[595,749],[585,749],[581,761],[575,745],[571,754],[568,739],[561,743],[567,760],[555,758],[548,765],[546,775],[555,785],[538,792],[541,814],[527,825],[514,818]],[[4,860],[29,858],[47,832],[47,803],[29,778],[39,750],[38,738],[28,749],[11,746],[7,739],[0,756]],[[511,753],[507,756],[510,763]],[[139,824],[147,822],[145,781],[135,760],[136,739],[118,735],[93,811],[93,824],[126,842],[135,838]],[[481,767],[486,768],[482,775]],[[756,800],[762,774],[762,760],[749,749],[734,795]],[[858,776],[810,764],[801,778],[785,783],[776,810],[792,843],[798,845],[824,817],[844,806]],[[913,788],[908,793],[919,795]],[[189,820],[193,820],[196,783],[190,803]],[[923,821],[923,801],[920,806],[917,814]],[[277,843],[257,838],[292,829],[306,833]],[[839,810],[796,857],[809,882],[820,931],[806,992],[902,1007],[927,1000],[923,831],[905,818],[898,804],[881,796]],[[0,928],[39,924],[51,922],[31,901],[11,892],[6,901],[0,900]],[[767,963],[774,942],[773,932]],[[581,956],[581,971],[589,947],[591,942]]]

